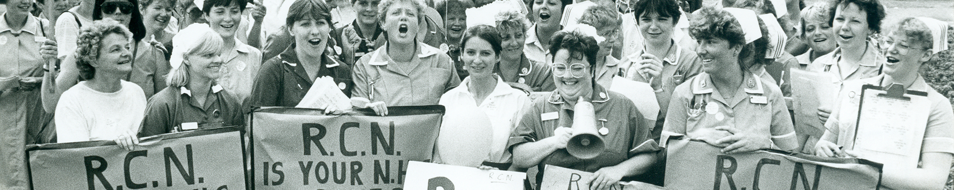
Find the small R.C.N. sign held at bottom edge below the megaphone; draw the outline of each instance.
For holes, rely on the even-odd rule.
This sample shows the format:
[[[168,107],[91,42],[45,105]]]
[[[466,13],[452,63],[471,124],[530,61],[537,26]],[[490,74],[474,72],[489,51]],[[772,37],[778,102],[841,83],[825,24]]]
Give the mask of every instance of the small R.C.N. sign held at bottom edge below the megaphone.
[[[540,182],[540,189],[588,190],[593,173],[547,165]],[[665,189],[646,182],[619,181],[610,186],[611,190],[662,190]]]

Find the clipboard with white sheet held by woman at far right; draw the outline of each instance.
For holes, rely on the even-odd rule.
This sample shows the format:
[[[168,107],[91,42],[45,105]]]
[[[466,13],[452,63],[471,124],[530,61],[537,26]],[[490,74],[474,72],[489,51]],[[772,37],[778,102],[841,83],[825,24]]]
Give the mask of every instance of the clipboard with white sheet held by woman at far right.
[[[862,85],[850,149],[861,159],[902,168],[917,168],[930,101],[927,92]]]

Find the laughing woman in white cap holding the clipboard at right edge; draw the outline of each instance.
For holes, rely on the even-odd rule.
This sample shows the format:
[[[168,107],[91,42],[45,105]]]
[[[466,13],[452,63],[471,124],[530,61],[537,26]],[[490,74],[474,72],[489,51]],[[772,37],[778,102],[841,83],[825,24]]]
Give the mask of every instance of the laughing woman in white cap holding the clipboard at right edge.
[[[886,88],[888,85],[903,85],[907,93],[912,91],[926,92],[926,100],[929,102],[929,110],[924,111],[927,114],[927,121],[920,121],[926,125],[923,128],[906,128],[907,130],[923,130],[923,137],[917,136],[914,141],[922,142],[920,146],[908,145],[896,150],[900,152],[917,152],[914,155],[904,155],[907,157],[918,158],[916,166],[902,166],[899,162],[881,161],[884,163],[883,174],[881,176],[881,189],[943,189],[944,182],[947,181],[947,174],[951,167],[951,160],[954,158],[954,133],[951,133],[951,123],[954,123],[954,111],[951,111],[951,104],[941,93],[938,93],[934,87],[924,82],[923,76],[919,73],[924,63],[936,57],[938,52],[947,49],[947,22],[933,18],[918,17],[904,18],[884,38],[884,56],[887,63],[884,63],[883,74],[876,77],[845,82],[839,93],[837,104],[840,104],[833,112],[832,117],[828,119],[825,126],[825,134],[814,147],[815,155],[821,157],[840,157],[840,158],[861,158],[872,159],[874,155],[865,155],[859,147],[871,147],[871,145],[856,144],[856,138],[852,136],[851,131],[857,128],[870,128],[869,126],[858,123],[859,108],[861,106],[862,85],[877,85]],[[867,96],[867,95],[865,95]],[[923,95],[922,95],[923,96]],[[907,95],[915,101],[915,95]],[[906,101],[904,101],[906,102]],[[913,102],[912,102],[913,103]],[[916,103],[915,103],[916,104]],[[889,107],[901,106],[900,104],[887,105]],[[927,105],[925,105],[927,106]],[[899,109],[901,111],[902,109]],[[905,109],[909,110],[909,109]],[[920,113],[919,113],[920,114]],[[919,121],[912,121],[919,123]],[[857,127],[857,128],[856,128]],[[897,126],[911,127],[911,126]],[[861,133],[860,133],[861,134]],[[861,135],[858,139],[864,139]],[[898,134],[902,136],[902,134]],[[902,137],[875,137],[878,141],[901,142]],[[907,137],[904,137],[906,141]],[[843,149],[842,149],[843,148]],[[912,150],[913,149],[913,150]],[[883,151],[883,150],[869,150]],[[889,150],[890,151],[890,150]],[[877,158],[874,158],[877,159]]]

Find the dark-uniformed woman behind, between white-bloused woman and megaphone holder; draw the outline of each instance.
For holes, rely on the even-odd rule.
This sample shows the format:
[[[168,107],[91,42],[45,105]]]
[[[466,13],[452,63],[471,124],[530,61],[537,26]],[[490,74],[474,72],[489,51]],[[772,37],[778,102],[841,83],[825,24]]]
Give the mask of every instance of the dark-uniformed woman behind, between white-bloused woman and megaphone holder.
[[[495,17],[503,50],[494,73],[511,86],[526,91],[548,92],[556,89],[550,65],[527,58],[524,51],[530,28],[527,17],[519,11],[503,11]]]

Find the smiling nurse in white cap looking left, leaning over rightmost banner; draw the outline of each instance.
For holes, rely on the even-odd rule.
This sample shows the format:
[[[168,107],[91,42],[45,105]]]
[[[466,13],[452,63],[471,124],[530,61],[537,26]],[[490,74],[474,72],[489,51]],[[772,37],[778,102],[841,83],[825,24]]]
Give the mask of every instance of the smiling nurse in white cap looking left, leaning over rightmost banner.
[[[699,43],[703,72],[675,87],[663,133],[723,147],[725,154],[798,148],[781,89],[742,63],[762,50],[751,43],[761,38],[750,35],[760,33],[757,21],[744,17],[755,16],[752,10],[706,7],[695,14],[690,35]]]

